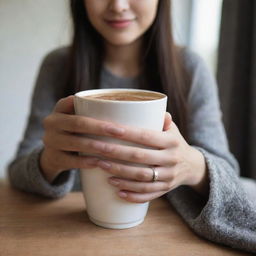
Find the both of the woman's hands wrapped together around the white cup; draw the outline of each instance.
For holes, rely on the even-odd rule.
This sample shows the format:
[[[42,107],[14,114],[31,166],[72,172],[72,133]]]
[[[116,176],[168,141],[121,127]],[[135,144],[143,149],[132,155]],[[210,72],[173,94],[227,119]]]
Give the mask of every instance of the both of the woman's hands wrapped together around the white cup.
[[[44,120],[44,149],[40,157],[42,172],[49,182],[58,174],[73,168],[99,166],[113,174],[109,182],[119,188],[119,195],[128,201],[146,202],[179,185],[189,185],[200,193],[207,191],[207,171],[202,154],[189,146],[166,114],[162,132],[125,127],[114,123],[74,115],[73,96],[61,99],[52,114]],[[110,136],[141,144],[152,149],[123,146],[82,136]],[[101,155],[113,161],[102,161]],[[127,163],[153,166],[158,180],[152,182],[152,169]],[[118,177],[118,178],[117,178]]]

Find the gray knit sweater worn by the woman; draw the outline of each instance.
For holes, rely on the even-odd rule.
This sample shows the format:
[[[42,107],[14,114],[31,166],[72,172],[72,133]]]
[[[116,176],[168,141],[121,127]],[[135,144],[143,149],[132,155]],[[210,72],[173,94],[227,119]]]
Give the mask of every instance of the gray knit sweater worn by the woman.
[[[239,178],[238,164],[228,149],[213,76],[198,56],[189,51],[184,51],[183,56],[192,77],[188,98],[188,142],[206,159],[210,192],[205,199],[190,187],[181,186],[169,192],[167,198],[200,236],[256,252],[256,183],[248,181],[245,186],[246,182]],[[58,99],[67,96],[63,76],[66,57],[67,48],[62,48],[44,59],[32,98],[27,129],[16,158],[8,169],[14,187],[52,198],[80,189],[76,170],[63,172],[53,184],[49,184],[40,172],[38,161],[43,147],[42,119],[52,111]],[[136,79],[116,77],[103,69],[101,87],[139,88],[139,84]]]

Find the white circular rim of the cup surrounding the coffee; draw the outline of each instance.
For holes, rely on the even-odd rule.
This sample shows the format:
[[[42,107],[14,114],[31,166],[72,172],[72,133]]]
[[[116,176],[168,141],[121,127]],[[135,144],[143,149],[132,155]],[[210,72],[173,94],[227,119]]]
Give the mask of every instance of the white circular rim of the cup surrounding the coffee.
[[[130,100],[106,100],[106,99],[95,99],[95,98],[86,98],[87,101],[99,101],[99,102],[113,102],[113,103],[146,103],[146,102],[152,102],[152,101],[159,101],[159,100],[164,100],[167,98],[167,95],[161,92],[156,92],[156,91],[151,91],[151,90],[144,90],[144,89],[132,89],[132,88],[106,88],[106,89],[91,89],[91,90],[84,90],[75,93],[75,97],[79,99],[85,100],[84,96],[89,96],[89,95],[94,95],[94,94],[99,94],[99,93],[107,93],[107,92],[121,92],[121,91],[139,91],[139,92],[149,92],[153,94],[157,94],[162,96],[161,98],[158,99],[151,99],[151,100],[143,100],[143,101],[130,101]]]

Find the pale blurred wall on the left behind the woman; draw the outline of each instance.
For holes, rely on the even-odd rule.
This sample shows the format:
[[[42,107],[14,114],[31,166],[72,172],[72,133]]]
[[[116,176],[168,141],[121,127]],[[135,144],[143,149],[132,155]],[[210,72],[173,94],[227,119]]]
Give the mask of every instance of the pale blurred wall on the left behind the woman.
[[[22,138],[42,57],[69,42],[67,3],[0,1],[0,178]]]

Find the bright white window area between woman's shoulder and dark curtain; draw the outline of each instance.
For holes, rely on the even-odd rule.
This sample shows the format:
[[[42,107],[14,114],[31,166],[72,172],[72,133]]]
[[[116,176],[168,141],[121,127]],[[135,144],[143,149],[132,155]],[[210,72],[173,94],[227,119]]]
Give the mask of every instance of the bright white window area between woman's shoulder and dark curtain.
[[[174,37],[199,54],[216,72],[223,0],[173,0]]]

